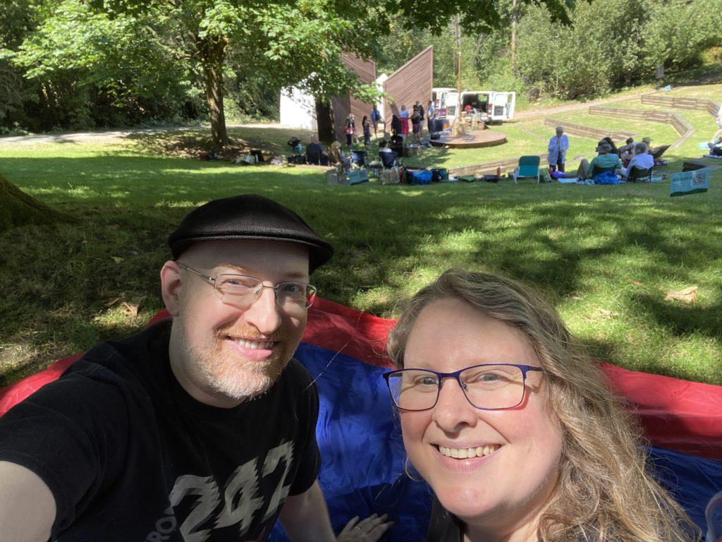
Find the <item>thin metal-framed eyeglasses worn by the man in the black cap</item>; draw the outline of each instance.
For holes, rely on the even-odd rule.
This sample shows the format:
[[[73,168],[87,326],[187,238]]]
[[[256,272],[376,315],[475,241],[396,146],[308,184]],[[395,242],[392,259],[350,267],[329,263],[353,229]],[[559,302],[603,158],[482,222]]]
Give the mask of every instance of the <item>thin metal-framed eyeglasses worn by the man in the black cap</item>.
[[[307,283],[288,282],[266,286],[262,280],[248,275],[222,273],[215,277],[209,277],[186,264],[178,263],[178,265],[212,283],[222,301],[241,309],[253,305],[261,296],[264,288],[270,288],[276,293],[276,303],[284,311],[308,309],[316,298],[316,286]]]

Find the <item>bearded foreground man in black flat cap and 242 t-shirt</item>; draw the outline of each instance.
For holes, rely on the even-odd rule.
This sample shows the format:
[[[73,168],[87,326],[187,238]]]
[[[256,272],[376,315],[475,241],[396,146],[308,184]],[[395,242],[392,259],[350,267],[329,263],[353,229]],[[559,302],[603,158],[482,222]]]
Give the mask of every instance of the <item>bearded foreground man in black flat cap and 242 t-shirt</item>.
[[[318,393],[292,356],[333,248],[256,195],[170,234],[171,315],[101,343],[0,418],[2,541],[334,541]],[[385,517],[339,540],[375,541]],[[357,538],[355,538],[357,537]]]

